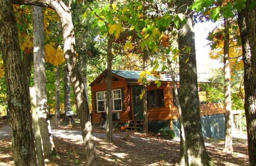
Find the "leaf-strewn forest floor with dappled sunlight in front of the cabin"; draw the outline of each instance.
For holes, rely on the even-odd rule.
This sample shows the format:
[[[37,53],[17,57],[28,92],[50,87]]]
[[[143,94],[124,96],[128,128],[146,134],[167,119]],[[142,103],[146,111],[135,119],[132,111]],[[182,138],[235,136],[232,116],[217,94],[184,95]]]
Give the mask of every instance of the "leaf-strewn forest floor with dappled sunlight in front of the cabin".
[[[51,119],[51,124],[54,124]],[[53,140],[58,156],[45,158],[47,166],[84,166],[86,157],[79,121],[72,125],[61,124],[53,127]],[[114,129],[114,142],[105,140],[106,130],[93,128],[96,149],[100,166],[167,166],[177,165],[179,161],[179,138],[166,140],[157,134],[122,132]],[[11,127],[0,120],[0,166],[14,165],[12,158]],[[219,166],[247,166],[248,150],[246,133],[236,134],[233,138],[234,153],[221,154],[224,139],[205,138],[207,153]]]

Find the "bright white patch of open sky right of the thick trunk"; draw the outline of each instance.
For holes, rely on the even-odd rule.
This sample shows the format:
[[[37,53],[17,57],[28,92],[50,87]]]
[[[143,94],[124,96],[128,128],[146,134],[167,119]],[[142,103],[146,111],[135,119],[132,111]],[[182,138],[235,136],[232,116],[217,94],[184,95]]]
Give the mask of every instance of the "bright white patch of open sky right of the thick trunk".
[[[211,51],[209,43],[206,40],[209,31],[211,31],[216,26],[213,22],[196,23],[194,26],[195,30],[195,43],[196,43],[196,64],[197,73],[199,80],[205,80],[211,77],[212,70],[215,68],[220,68],[223,64],[219,61],[211,59],[209,53]]]

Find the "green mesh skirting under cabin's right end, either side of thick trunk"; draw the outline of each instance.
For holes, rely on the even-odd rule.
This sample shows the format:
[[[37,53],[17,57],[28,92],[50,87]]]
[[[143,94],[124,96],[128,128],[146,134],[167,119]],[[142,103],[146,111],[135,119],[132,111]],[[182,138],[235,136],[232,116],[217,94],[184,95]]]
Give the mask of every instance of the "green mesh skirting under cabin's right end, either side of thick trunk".
[[[208,115],[201,117],[202,132],[204,137],[224,138],[225,117],[224,114]],[[172,120],[173,131],[176,137],[180,136],[180,120]]]

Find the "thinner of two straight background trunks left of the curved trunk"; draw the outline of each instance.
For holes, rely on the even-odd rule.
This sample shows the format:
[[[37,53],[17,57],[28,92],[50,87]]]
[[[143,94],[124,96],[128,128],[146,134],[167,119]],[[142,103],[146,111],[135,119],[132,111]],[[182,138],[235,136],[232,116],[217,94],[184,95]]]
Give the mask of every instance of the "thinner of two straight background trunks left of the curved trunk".
[[[56,67],[56,105],[55,105],[55,126],[60,127],[60,69]]]

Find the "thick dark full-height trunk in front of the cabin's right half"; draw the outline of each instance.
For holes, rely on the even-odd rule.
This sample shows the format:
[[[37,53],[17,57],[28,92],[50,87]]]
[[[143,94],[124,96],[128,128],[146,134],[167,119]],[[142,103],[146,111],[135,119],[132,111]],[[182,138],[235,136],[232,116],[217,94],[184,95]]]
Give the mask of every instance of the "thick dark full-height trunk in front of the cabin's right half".
[[[209,165],[209,157],[204,146],[202,125],[200,119],[197,73],[196,73],[196,50],[193,23],[193,11],[188,7],[193,3],[190,0],[176,1],[176,12],[182,13],[187,21],[180,24],[178,32],[179,49],[190,47],[190,54],[183,50],[179,55],[180,63],[180,106],[184,118],[184,130],[188,145],[189,165]],[[188,62],[186,60],[189,58]],[[184,164],[184,140],[180,141],[180,163]]]

